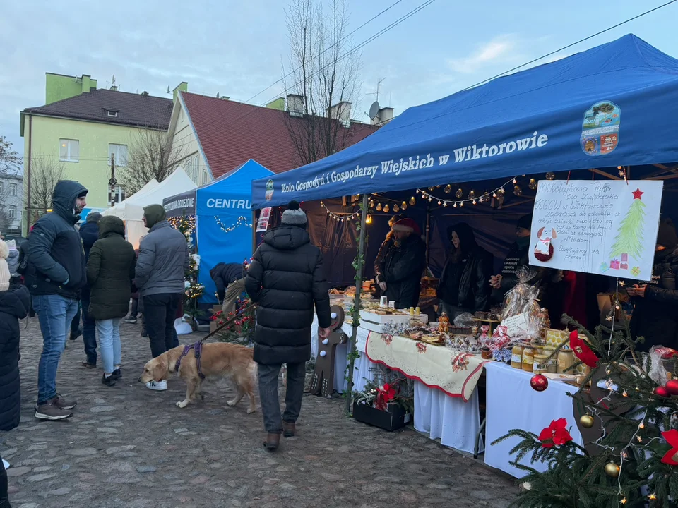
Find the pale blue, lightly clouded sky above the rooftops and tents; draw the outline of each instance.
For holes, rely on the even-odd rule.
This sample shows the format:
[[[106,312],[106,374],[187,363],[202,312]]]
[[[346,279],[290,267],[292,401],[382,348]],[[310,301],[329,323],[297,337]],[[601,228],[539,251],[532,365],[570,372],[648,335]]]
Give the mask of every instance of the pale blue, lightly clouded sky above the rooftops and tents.
[[[327,0],[319,0],[327,1]],[[396,0],[347,0],[350,30]],[[352,118],[379,102],[395,114],[451,95],[554,49],[636,16],[666,0],[436,0],[361,51],[360,89]],[[360,44],[424,0],[401,0],[352,35]],[[0,135],[23,155],[19,112],[44,104],[44,73],[89,74],[99,87],[189,92],[248,101],[282,77],[288,61],[287,0],[23,0],[0,16]],[[578,44],[542,62],[634,33],[678,57],[678,2]],[[275,85],[251,100],[285,95]]]

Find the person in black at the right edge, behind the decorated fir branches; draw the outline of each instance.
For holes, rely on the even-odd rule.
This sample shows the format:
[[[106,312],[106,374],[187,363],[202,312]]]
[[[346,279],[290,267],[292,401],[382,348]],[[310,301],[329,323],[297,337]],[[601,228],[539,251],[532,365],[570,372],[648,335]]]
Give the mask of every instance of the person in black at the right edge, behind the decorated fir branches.
[[[671,219],[660,222],[656,245],[652,281],[626,284],[635,306],[631,337],[645,339],[637,346],[645,352],[659,345],[678,349],[678,236]]]

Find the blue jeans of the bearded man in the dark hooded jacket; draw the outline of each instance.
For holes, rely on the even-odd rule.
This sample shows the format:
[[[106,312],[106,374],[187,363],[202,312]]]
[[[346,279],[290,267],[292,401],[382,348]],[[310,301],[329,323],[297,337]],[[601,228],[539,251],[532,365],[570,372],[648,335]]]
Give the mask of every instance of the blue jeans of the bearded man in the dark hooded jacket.
[[[78,312],[78,301],[59,295],[36,295],[33,308],[42,332],[42,354],[37,367],[37,404],[57,395],[57,368],[66,346],[66,335]]]

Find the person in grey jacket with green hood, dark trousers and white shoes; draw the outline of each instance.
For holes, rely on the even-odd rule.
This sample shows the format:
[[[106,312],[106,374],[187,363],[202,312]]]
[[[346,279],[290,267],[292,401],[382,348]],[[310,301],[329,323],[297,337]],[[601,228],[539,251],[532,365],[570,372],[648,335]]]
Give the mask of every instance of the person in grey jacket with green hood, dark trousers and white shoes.
[[[184,274],[189,268],[189,249],[184,235],[169,225],[162,205],[143,208],[148,234],[139,244],[135,285],[143,298],[143,313],[153,358],[179,346],[174,319],[184,295]],[[146,387],[167,389],[167,381],[151,381]]]

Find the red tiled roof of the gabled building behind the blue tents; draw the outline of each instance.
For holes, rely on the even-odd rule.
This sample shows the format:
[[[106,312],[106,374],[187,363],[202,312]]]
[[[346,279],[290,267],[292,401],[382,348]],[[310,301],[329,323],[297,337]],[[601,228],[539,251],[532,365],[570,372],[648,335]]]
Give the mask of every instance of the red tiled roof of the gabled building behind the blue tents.
[[[301,165],[289,130],[289,121],[300,119],[286,111],[205,95],[182,92],[182,97],[214,178],[249,159],[274,173]],[[346,146],[376,130],[376,126],[353,123]]]

